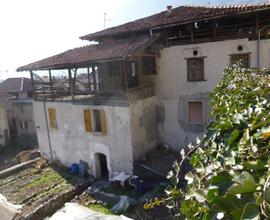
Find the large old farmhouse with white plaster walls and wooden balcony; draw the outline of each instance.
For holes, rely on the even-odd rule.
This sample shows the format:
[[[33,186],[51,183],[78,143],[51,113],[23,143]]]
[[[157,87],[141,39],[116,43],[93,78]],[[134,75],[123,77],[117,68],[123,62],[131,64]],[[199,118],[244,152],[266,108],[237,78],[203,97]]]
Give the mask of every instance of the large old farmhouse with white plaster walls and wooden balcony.
[[[31,73],[42,154],[84,160],[99,177],[132,173],[158,144],[186,147],[203,135],[226,66],[270,65],[269,15],[269,4],[168,7],[18,68]]]

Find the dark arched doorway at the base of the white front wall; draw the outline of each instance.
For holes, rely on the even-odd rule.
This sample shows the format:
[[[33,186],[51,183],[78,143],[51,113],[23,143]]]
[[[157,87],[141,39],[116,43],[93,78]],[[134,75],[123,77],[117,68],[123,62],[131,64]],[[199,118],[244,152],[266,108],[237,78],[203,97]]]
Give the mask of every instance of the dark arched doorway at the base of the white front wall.
[[[95,153],[95,167],[96,167],[96,178],[98,179],[108,179],[108,165],[107,157],[102,153]]]

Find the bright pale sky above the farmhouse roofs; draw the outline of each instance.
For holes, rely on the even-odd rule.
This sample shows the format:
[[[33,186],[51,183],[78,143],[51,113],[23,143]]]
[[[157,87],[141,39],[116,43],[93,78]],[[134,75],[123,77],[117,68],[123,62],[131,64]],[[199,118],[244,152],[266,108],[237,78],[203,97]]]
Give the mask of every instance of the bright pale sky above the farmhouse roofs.
[[[28,76],[21,65],[87,44],[79,36],[158,13],[167,5],[230,5],[253,0],[8,0],[0,1],[0,79]]]

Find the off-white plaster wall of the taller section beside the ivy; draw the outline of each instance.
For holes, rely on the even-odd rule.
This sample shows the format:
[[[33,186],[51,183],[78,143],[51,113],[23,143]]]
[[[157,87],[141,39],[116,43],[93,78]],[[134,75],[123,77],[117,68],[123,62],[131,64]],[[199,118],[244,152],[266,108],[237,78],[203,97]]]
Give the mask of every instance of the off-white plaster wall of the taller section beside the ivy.
[[[184,107],[181,106],[183,100],[203,99],[207,102],[205,96],[221,80],[223,70],[230,64],[230,54],[239,53],[237,51],[239,45],[244,48],[242,53],[251,53],[250,65],[256,66],[257,42],[248,41],[248,39],[172,46],[161,50],[161,57],[158,59],[159,72],[155,83],[159,105],[164,109],[163,120],[159,123],[162,143],[168,144],[177,150],[194,141],[196,136],[202,136],[203,132],[198,132],[198,129],[196,131],[194,126],[189,128],[179,122],[187,120],[187,118],[183,119],[183,117],[187,117],[183,115]],[[261,66],[270,66],[270,40],[262,40],[260,48]],[[193,57],[193,50],[195,49],[199,52],[198,56],[205,56],[205,81],[187,82],[185,58]],[[204,107],[205,114],[208,114],[208,104],[205,103]],[[206,115],[204,126],[207,121]]]

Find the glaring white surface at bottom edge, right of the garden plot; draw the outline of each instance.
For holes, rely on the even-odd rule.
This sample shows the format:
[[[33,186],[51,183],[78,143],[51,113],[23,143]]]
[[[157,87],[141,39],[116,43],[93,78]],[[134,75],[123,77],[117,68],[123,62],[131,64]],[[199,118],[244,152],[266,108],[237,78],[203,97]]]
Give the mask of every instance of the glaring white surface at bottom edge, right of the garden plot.
[[[45,220],[131,220],[125,216],[105,215],[94,212],[77,203],[66,203],[52,217]]]

